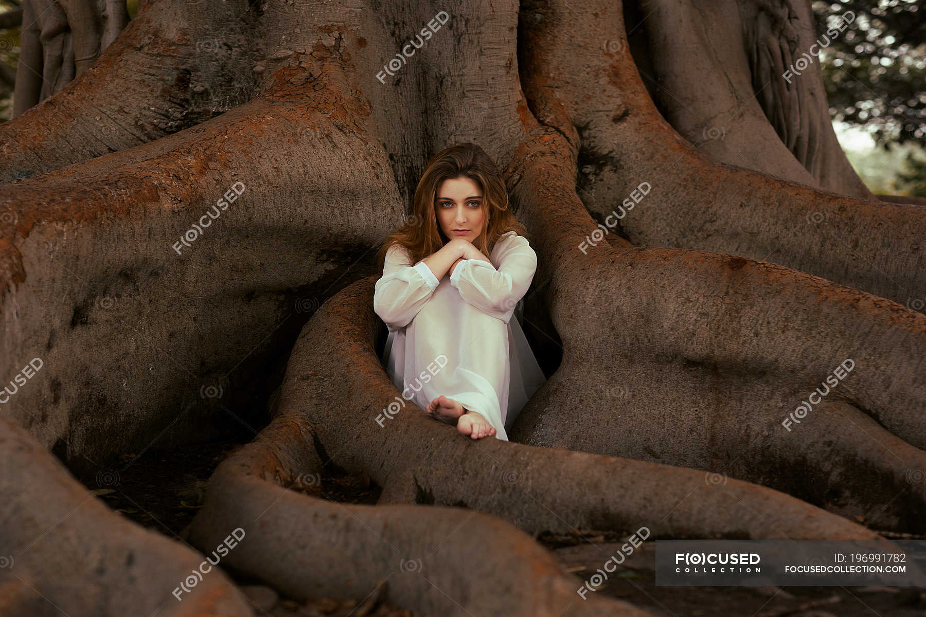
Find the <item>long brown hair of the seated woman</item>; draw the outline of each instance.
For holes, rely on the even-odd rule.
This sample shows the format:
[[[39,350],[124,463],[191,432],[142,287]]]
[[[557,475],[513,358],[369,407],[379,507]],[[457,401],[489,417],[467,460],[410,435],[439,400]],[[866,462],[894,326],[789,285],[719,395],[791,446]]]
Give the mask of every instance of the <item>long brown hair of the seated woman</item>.
[[[482,231],[472,242],[482,254],[489,257],[495,241],[508,231],[527,237],[527,229],[511,211],[505,179],[492,158],[475,143],[457,143],[428,161],[415,189],[411,216],[386,237],[377,253],[381,270],[386,253],[394,244],[406,247],[411,253],[411,263],[416,264],[449,241],[437,223],[435,198],[444,180],[457,178],[469,178],[482,189]]]

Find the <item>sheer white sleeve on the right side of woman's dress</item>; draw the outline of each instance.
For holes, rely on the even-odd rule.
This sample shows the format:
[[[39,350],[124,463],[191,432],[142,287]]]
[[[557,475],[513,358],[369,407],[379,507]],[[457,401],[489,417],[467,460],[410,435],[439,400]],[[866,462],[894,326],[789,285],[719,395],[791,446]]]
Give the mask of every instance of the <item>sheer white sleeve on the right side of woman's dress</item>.
[[[463,300],[507,324],[531,287],[537,255],[526,238],[514,233],[498,242],[497,269],[481,259],[464,259],[450,275],[450,284]]]

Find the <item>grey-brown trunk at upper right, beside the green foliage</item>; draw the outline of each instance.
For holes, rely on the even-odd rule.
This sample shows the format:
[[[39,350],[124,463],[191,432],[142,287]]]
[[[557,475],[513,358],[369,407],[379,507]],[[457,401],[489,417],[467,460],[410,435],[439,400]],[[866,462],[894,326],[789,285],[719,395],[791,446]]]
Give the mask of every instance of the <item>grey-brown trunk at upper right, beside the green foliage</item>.
[[[627,3],[634,6],[639,10],[628,11],[630,25],[644,25],[645,51],[656,69],[648,79],[658,87],[647,85],[685,139],[717,163],[872,199],[832,130],[819,64],[785,74],[803,53],[820,47],[814,46],[810,3]],[[679,22],[692,27],[680,30]]]

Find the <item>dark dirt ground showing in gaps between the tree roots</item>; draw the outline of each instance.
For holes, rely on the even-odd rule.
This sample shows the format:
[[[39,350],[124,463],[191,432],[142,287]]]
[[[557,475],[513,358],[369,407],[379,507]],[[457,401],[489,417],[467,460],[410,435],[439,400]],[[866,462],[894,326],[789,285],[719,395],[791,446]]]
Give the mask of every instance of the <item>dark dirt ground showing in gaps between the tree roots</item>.
[[[110,472],[81,478],[99,499],[145,527],[177,537],[202,505],[209,475],[237,443],[205,444],[196,450],[149,451],[122,456]],[[362,478],[326,475],[320,487],[294,487],[315,497],[347,503],[376,503],[380,488]],[[628,534],[577,530],[537,541],[578,579],[576,589],[626,541]],[[179,541],[179,537],[177,537]],[[656,586],[655,543],[644,542],[619,570],[591,594],[620,598],[666,617],[714,617],[719,611],[745,617],[921,617],[926,592],[905,587],[697,587]],[[232,579],[254,600],[257,614],[271,617],[410,617],[382,601],[384,586],[362,602],[313,598],[297,601],[235,572]],[[584,601],[576,594],[576,606]],[[568,612],[564,617],[568,617]]]

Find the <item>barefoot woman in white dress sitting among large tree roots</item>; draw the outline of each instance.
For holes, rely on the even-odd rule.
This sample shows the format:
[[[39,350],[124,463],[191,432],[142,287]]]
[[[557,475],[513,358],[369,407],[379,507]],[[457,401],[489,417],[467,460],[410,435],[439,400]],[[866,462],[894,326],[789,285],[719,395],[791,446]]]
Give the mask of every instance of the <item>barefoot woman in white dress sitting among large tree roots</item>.
[[[482,148],[428,163],[413,216],[380,249],[373,310],[389,328],[382,363],[395,387],[470,438],[507,432],[544,383],[517,319],[537,255]],[[414,265],[413,265],[414,264]]]

